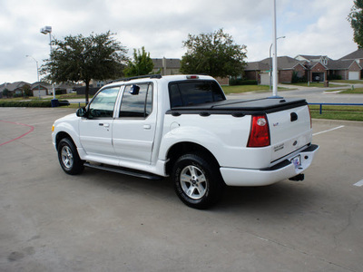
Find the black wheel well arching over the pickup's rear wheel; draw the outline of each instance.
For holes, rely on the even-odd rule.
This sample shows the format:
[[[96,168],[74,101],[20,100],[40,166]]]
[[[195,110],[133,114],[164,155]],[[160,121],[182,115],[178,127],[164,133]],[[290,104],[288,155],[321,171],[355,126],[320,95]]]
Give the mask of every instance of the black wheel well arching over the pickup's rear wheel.
[[[168,151],[167,159],[169,159],[169,161],[166,164],[166,173],[170,174],[172,172],[174,162],[178,160],[182,155],[188,153],[201,154],[203,157],[212,160],[218,167],[220,167],[218,160],[214,157],[211,151],[207,150],[205,147],[194,142],[179,142],[173,145],[172,148]]]

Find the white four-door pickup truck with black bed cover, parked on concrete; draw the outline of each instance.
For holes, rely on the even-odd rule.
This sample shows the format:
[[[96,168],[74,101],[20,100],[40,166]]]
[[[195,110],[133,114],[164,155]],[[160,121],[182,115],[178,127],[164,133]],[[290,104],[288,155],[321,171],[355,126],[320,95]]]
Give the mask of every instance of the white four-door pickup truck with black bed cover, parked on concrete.
[[[104,86],[87,107],[54,122],[63,170],[84,166],[156,179],[171,176],[182,201],[207,209],[225,185],[303,180],[311,143],[305,100],[227,100],[205,75],[152,75]]]

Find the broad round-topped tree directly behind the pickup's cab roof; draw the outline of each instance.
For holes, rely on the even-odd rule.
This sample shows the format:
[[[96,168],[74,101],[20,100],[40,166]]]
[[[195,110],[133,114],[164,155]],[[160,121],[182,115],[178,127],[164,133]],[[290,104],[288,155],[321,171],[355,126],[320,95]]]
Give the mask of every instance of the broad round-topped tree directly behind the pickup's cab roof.
[[[233,44],[223,29],[210,34],[188,35],[182,42],[182,73],[207,73],[213,77],[237,76],[243,72],[246,45]]]

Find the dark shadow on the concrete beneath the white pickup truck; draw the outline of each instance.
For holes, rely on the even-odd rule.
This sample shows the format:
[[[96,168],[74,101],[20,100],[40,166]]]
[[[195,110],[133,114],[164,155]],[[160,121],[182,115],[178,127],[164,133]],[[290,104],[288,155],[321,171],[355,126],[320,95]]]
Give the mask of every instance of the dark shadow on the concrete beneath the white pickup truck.
[[[112,193],[142,195],[183,207],[182,201],[174,192],[170,178],[145,180],[93,169],[85,169],[83,175],[79,177],[82,177],[82,182],[107,189]],[[315,199],[321,197],[321,192],[311,184],[311,180],[299,182],[283,180],[264,187],[226,187],[220,202],[209,211],[241,212],[269,209],[277,213],[280,211],[296,213],[312,205]]]

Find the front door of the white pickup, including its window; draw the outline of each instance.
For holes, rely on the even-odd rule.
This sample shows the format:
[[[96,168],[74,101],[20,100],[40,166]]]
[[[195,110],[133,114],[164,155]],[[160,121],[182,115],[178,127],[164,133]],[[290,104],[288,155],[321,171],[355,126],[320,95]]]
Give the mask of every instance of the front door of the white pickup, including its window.
[[[80,141],[88,155],[114,157],[113,110],[120,86],[98,92],[80,121]]]

